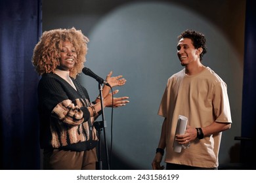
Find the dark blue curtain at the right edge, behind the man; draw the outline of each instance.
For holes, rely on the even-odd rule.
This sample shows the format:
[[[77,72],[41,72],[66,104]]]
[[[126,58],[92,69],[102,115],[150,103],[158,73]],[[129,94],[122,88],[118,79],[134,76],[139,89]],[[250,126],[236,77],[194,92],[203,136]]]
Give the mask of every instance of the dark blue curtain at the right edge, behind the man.
[[[256,11],[255,1],[246,1],[244,83],[242,101],[242,161],[255,163],[256,140]],[[256,167],[256,165],[254,165]]]

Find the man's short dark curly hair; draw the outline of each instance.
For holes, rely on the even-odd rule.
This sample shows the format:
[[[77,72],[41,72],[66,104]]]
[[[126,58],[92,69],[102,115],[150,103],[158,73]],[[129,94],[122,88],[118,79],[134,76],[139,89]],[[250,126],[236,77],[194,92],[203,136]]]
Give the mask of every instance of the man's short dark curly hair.
[[[183,31],[181,35],[178,36],[178,40],[180,41],[182,38],[191,39],[196,49],[203,48],[203,52],[200,54],[200,61],[202,61],[203,55],[207,52],[205,35],[192,29],[186,29],[186,31]]]

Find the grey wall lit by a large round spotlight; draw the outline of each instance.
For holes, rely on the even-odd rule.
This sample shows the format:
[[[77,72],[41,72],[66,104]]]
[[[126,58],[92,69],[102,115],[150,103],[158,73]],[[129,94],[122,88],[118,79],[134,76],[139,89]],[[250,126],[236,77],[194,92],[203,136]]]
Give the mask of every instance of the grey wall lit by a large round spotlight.
[[[108,3],[106,3],[108,2]],[[242,111],[245,0],[238,1],[84,1],[43,0],[43,31],[75,27],[90,39],[86,67],[102,78],[113,71],[127,84],[117,96],[130,103],[106,108],[106,137],[113,128],[114,169],[151,169],[163,118],[158,116],[167,78],[182,69],[177,59],[177,35],[202,31],[208,52],[203,63],[228,85],[232,128],[223,133],[219,161],[238,162]],[[80,75],[95,99],[98,84]]]

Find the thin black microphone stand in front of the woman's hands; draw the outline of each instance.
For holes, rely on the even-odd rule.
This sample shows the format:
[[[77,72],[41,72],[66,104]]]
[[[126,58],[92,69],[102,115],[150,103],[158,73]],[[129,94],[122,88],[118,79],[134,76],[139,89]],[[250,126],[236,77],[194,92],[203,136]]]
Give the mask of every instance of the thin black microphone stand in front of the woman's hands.
[[[100,135],[101,135],[101,131],[103,129],[104,132],[104,143],[105,143],[105,148],[106,148],[106,159],[107,159],[107,164],[108,164],[108,170],[110,169],[110,164],[109,164],[109,160],[108,160],[108,146],[107,146],[107,142],[106,142],[106,121],[105,121],[105,116],[104,116],[104,108],[103,108],[103,97],[102,97],[102,85],[100,82],[98,82],[98,90],[100,91],[100,105],[101,105],[101,110],[102,110],[102,121],[100,122],[95,122],[95,129],[98,131],[98,161],[96,161],[96,170],[102,170],[102,160],[101,160],[101,139],[100,139]]]

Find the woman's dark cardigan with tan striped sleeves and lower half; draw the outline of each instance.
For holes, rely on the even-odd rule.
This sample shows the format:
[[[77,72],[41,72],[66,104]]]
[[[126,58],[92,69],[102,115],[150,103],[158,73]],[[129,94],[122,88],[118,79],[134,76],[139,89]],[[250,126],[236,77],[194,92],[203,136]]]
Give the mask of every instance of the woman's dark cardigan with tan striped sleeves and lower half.
[[[44,74],[38,84],[40,146],[83,151],[96,146],[98,138],[90,117],[87,90],[72,79],[77,91],[63,78]]]

